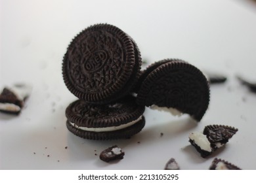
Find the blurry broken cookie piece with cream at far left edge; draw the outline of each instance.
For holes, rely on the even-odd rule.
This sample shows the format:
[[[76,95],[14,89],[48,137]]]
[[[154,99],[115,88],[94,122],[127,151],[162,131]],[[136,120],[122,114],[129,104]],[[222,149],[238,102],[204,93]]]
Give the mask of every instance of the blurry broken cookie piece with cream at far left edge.
[[[12,87],[5,87],[0,94],[0,111],[19,114],[24,107],[24,101],[31,92],[32,86],[28,84],[14,84]]]

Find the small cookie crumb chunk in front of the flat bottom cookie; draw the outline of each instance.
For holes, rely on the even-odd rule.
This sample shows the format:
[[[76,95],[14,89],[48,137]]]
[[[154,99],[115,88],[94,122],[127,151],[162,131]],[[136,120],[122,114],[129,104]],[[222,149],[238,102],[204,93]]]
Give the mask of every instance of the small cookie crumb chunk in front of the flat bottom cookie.
[[[123,156],[125,156],[125,152],[123,152],[121,148],[116,145],[111,146],[100,153],[100,159],[105,162],[113,161],[116,159],[123,159]]]

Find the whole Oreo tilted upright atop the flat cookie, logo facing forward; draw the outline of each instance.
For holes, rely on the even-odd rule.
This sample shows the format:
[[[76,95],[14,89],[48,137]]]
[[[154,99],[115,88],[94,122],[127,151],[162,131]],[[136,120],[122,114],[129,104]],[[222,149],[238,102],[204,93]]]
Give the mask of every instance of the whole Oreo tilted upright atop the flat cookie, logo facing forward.
[[[68,46],[62,75],[79,99],[106,104],[131,93],[141,64],[139,48],[129,35],[114,25],[96,24]]]

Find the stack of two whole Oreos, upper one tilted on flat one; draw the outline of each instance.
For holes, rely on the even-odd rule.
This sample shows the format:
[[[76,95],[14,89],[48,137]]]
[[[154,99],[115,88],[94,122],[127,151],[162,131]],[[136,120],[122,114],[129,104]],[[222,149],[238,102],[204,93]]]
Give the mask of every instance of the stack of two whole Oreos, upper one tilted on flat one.
[[[63,59],[64,82],[79,100],[66,108],[66,125],[79,137],[128,138],[145,124],[145,107],[131,90],[140,75],[137,44],[121,29],[97,24],[81,31]]]

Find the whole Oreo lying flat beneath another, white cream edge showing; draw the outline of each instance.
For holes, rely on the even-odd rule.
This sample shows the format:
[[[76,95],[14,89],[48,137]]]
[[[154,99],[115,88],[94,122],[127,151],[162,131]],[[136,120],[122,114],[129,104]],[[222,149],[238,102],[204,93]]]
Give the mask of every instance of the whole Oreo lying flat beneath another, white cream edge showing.
[[[131,95],[106,105],[91,105],[79,99],[66,108],[66,125],[85,139],[127,139],[144,127],[144,110]]]

